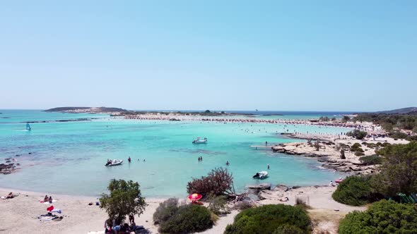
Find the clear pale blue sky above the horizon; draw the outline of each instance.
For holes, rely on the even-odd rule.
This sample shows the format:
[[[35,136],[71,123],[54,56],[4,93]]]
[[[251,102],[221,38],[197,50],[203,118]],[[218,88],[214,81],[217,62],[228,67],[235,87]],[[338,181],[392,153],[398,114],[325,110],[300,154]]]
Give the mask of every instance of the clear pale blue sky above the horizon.
[[[417,1],[1,1],[0,109],[417,106]]]

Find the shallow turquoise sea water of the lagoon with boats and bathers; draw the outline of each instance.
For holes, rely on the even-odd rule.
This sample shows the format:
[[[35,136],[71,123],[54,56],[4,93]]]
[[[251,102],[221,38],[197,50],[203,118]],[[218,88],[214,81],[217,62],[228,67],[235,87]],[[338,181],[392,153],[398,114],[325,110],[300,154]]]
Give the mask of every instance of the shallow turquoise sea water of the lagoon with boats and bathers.
[[[341,133],[346,128],[257,123],[198,121],[132,121],[107,115],[0,110],[0,160],[14,157],[21,170],[0,175],[0,187],[69,195],[98,195],[112,178],[138,181],[147,197],[184,197],[187,181],[225,167],[233,173],[235,189],[259,183],[252,179],[270,165],[267,183],[324,185],[343,176],[319,168],[315,159],[253,149],[264,142],[294,142],[282,132]],[[316,117],[322,116],[317,113]],[[31,123],[58,119],[96,118],[82,122]],[[261,117],[262,118],[262,117]],[[273,118],[266,116],[266,118]],[[283,118],[283,116],[274,116]],[[288,118],[288,116],[286,116]],[[295,114],[292,118],[306,118]],[[311,116],[309,116],[311,118]],[[192,144],[195,137],[208,144]],[[29,154],[30,153],[30,154]],[[20,154],[20,156],[15,156]],[[131,156],[132,162],[127,162]],[[203,156],[203,161],[197,161]],[[122,166],[105,167],[107,159],[123,159]],[[138,161],[139,159],[139,161]],[[145,159],[146,161],[143,161]]]

